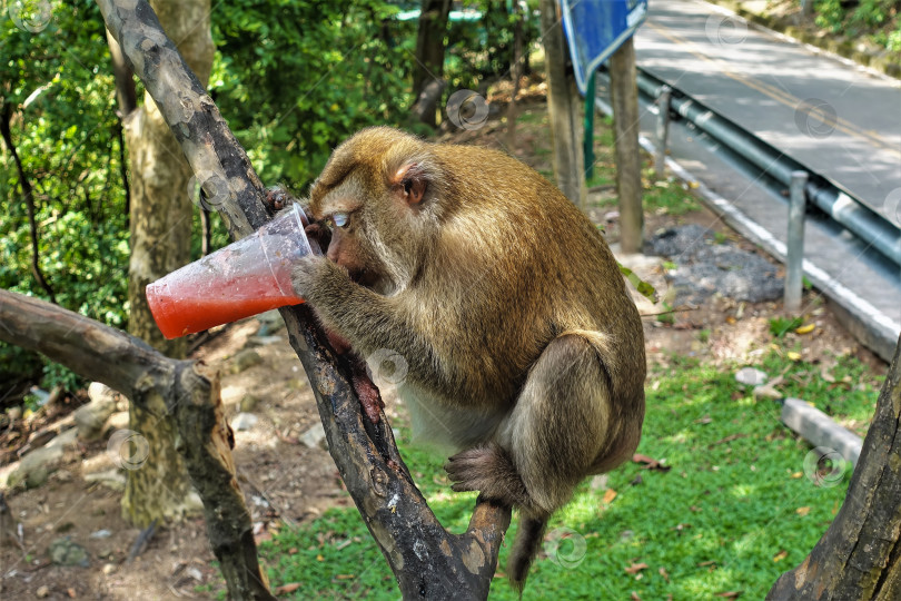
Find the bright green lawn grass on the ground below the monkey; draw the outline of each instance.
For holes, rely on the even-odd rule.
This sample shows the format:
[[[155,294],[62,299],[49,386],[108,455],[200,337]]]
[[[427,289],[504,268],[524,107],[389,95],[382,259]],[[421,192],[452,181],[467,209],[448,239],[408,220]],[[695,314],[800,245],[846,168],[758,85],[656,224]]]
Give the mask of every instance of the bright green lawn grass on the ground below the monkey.
[[[880,382],[857,361],[840,359],[831,372],[836,381],[848,376],[855,386],[864,383],[854,391],[818,382],[819,366],[786,363],[778,351],[758,366],[773,377],[786,365],[789,394],[839,415],[872,414]],[[814,485],[803,475],[810,446],[780,424],[776,403],[755,401],[733,373],[680,357],[652,370],[638,453],[671,470],[621,466],[608,475],[606,487],[617,493],[608,504],[602,501],[604,487],[583,483],[549,530],[573,531],[568,540],[560,539],[557,558],[566,560],[582,542],[584,558],[542,556],[524,599],[618,600],[635,591],[648,600],[670,594],[694,600],[734,590],[743,591],[743,599],[762,599],[780,573],[803,560],[841,506],[849,475],[833,487]],[[443,460],[410,449],[406,430],[402,433],[402,452],[429,505],[442,523],[463,531],[474,495],[450,493]],[[808,509],[799,513],[799,508]],[[261,551],[274,587],[301,583],[296,599],[399,598],[354,509],[329,511],[296,530],[283,528]],[[648,568],[627,573],[634,563]],[[516,594],[495,579],[492,599]]]

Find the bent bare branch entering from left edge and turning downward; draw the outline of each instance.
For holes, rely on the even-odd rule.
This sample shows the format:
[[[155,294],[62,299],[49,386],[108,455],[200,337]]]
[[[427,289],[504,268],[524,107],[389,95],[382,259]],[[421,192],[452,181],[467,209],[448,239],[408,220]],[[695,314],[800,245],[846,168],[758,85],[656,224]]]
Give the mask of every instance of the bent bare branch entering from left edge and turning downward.
[[[172,420],[200,497],[207,534],[232,599],[274,599],[235,477],[219,378],[136,338],[38,298],[0,289],[0,341],[37,351]],[[162,413],[162,414],[160,414]]]

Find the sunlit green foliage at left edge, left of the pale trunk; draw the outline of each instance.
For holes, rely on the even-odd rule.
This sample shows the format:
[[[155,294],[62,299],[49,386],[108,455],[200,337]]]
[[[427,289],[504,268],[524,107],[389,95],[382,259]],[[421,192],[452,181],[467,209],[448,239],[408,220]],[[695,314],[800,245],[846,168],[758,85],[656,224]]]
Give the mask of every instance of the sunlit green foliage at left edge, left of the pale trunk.
[[[60,305],[121,325],[128,227],[119,120],[99,10],[88,0],[55,4],[46,27],[40,18],[29,27],[21,13],[17,17],[19,23],[7,13],[0,21],[0,112],[9,116],[34,189],[40,268]],[[0,287],[46,297],[30,269],[22,183],[6,145],[0,165]],[[39,366],[34,357],[0,346],[3,372]]]

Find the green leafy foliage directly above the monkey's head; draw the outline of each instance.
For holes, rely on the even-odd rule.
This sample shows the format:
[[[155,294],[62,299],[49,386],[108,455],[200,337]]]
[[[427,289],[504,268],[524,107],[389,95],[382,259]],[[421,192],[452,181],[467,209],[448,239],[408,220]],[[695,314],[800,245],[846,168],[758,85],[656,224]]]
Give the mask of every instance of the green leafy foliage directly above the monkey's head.
[[[212,13],[214,99],[264,181],[303,189],[344,138],[410,104],[415,22],[383,0],[241,0]]]

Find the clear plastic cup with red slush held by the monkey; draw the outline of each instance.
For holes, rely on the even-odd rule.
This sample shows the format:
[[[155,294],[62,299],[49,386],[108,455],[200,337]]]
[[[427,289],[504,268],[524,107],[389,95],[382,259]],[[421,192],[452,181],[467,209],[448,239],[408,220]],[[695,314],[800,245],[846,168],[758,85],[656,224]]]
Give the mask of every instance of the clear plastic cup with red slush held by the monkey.
[[[304,299],[291,286],[291,264],[321,254],[307,239],[298,205],[254,234],[147,286],[147,303],[169,339],[202,332]]]

